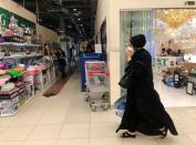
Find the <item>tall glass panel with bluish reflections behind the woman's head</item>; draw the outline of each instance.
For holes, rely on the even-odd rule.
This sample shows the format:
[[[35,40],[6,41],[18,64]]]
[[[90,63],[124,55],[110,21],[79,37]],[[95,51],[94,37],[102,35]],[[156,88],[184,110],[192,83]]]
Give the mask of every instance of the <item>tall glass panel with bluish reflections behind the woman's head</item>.
[[[140,33],[145,34],[147,39],[145,49],[155,56],[154,14],[152,10],[121,12],[121,75],[123,75],[126,65],[124,50],[130,44],[132,35]]]

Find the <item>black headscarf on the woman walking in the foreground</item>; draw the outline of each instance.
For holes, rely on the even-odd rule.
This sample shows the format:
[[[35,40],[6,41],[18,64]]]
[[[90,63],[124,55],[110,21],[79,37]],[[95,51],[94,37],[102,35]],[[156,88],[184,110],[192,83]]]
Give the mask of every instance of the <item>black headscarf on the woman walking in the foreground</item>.
[[[144,34],[137,34],[132,37],[130,42],[134,49],[143,48],[146,44],[146,38]]]

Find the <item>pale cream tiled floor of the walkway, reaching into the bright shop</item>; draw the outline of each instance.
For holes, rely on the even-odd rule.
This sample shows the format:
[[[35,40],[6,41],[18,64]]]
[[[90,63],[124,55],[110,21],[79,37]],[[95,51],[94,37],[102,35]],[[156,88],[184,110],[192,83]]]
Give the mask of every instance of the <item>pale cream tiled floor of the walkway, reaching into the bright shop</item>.
[[[167,106],[179,106],[180,97],[188,97],[183,90],[175,94],[174,89],[157,84]],[[16,116],[0,117],[0,145],[196,145],[196,107],[167,111],[179,132],[177,137],[161,139],[138,134],[137,138],[123,139],[115,134],[121,118],[113,110],[90,112],[80,92],[80,75],[74,74],[58,96],[37,96]]]

